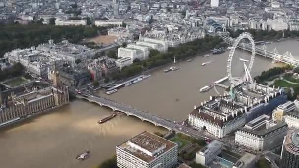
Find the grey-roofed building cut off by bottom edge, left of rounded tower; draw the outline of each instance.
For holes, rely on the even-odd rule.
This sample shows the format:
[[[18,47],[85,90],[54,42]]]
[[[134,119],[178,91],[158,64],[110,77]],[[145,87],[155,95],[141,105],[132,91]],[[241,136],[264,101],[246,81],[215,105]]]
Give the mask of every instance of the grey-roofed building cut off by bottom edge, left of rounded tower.
[[[257,157],[253,154],[246,153],[235,164],[233,168],[255,168]]]

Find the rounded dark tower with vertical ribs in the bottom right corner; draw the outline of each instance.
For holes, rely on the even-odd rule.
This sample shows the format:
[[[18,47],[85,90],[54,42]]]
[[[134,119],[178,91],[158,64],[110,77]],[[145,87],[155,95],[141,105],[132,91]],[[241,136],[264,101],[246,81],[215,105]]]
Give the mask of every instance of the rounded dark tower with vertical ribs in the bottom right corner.
[[[299,168],[299,130],[289,130],[284,138],[280,159],[282,168]]]

